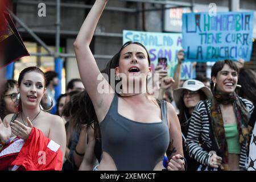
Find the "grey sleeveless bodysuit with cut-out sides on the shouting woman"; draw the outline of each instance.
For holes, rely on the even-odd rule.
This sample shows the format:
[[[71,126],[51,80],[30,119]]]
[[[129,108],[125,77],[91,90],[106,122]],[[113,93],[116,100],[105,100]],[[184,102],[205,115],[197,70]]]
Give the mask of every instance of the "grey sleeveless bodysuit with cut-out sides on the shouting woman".
[[[100,123],[102,151],[108,153],[122,171],[152,171],[164,157],[170,142],[166,101],[159,103],[162,121],[142,123],[118,113],[118,96]]]

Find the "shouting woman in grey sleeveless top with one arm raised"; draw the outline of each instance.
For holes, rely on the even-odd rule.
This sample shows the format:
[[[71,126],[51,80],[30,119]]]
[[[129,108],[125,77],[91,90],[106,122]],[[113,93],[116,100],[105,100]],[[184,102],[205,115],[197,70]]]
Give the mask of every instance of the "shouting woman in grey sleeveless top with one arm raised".
[[[105,80],[97,67],[89,45],[106,3],[96,0],[74,43],[80,76],[100,123],[103,152],[94,170],[162,170],[169,143],[172,152],[168,152],[167,169],[183,170],[181,130],[175,110],[166,102],[158,105],[146,92],[146,76],[151,73],[146,48],[135,42],[124,44],[105,69],[110,76],[113,68],[116,80],[122,77],[121,92],[110,87],[110,82],[116,80]],[[133,82],[139,82],[139,88],[134,88]],[[116,86],[121,88],[119,83]]]

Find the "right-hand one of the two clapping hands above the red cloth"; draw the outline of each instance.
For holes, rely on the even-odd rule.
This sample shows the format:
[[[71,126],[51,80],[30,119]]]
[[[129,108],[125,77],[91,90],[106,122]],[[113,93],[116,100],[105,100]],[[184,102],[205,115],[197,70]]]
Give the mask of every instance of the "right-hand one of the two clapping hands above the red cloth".
[[[32,123],[30,119],[27,117],[27,126],[23,125],[22,123],[14,120],[14,122],[11,123],[11,132],[16,135],[17,137],[26,140],[30,136],[31,130],[32,130]]]

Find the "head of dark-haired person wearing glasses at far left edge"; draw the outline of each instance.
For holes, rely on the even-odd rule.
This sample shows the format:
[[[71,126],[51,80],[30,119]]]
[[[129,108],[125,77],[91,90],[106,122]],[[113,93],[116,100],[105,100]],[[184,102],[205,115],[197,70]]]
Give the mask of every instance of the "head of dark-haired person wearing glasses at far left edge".
[[[18,82],[16,80],[6,80],[3,85],[3,92],[0,94],[0,118],[16,113],[18,106],[15,101],[18,94]]]

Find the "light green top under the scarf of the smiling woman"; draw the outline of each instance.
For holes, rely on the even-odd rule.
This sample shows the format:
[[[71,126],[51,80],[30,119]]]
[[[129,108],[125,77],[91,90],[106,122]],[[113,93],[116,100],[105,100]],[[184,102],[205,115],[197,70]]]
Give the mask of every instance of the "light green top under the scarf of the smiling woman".
[[[226,142],[228,143],[229,154],[240,154],[241,144],[239,143],[239,133],[237,124],[225,124]]]

